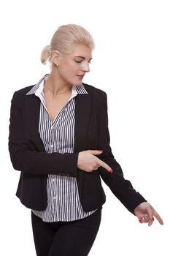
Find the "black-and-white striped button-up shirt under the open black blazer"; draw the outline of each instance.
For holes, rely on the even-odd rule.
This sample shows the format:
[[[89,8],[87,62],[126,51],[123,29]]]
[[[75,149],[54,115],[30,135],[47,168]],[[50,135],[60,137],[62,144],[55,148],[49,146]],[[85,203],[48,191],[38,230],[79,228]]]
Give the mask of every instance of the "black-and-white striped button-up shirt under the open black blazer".
[[[88,92],[82,84],[72,86],[72,96],[52,121],[47,113],[43,94],[46,78],[47,75],[27,93],[28,95],[35,94],[41,100],[39,135],[48,153],[72,153],[74,150],[75,97],[77,94],[88,94]],[[45,211],[32,211],[44,222],[68,222],[88,217],[94,212],[82,210],[76,178],[50,174],[47,178],[47,208]]]

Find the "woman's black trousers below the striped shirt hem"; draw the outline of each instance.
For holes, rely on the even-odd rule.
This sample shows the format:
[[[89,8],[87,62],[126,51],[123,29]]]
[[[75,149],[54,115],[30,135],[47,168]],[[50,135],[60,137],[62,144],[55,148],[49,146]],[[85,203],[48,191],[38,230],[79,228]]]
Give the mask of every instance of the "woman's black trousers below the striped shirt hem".
[[[98,233],[101,208],[72,222],[43,222],[31,212],[37,256],[87,256]]]

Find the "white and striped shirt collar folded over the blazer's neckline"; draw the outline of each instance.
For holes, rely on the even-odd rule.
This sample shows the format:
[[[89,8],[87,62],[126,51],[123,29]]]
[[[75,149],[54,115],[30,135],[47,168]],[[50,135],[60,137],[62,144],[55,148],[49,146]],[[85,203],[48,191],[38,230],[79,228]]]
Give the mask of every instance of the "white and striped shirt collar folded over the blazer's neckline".
[[[39,80],[38,83],[36,83],[35,86],[31,88],[30,91],[27,92],[26,95],[35,94],[36,96],[40,97],[42,95],[43,89],[44,89],[44,80],[47,78],[49,74],[46,74]],[[86,91],[85,86],[81,83],[80,86],[72,86],[72,97],[75,97],[77,94],[88,94],[88,91]]]

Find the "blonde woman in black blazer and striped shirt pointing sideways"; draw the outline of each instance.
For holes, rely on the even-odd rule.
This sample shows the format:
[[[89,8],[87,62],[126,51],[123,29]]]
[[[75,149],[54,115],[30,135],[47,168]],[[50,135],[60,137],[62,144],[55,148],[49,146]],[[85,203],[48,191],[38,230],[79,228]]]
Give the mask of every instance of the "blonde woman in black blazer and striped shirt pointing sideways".
[[[155,216],[163,224],[112,154],[107,94],[82,83],[93,48],[86,29],[60,26],[42,50],[50,74],[12,98],[9,153],[38,256],[88,255],[105,203],[100,177],[139,222],[150,226]]]

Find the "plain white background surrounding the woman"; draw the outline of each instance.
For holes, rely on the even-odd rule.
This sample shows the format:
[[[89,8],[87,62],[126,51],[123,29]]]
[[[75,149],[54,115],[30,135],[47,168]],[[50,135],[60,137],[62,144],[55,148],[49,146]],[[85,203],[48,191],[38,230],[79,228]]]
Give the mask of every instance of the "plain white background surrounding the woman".
[[[31,211],[15,197],[20,173],[7,150],[10,100],[49,71],[39,55],[67,23],[84,26],[95,39],[84,82],[107,92],[112,152],[164,220],[139,224],[103,184],[107,203],[89,255],[169,255],[169,1],[6,0],[0,12],[1,255],[36,255]]]

